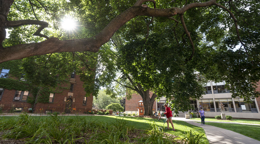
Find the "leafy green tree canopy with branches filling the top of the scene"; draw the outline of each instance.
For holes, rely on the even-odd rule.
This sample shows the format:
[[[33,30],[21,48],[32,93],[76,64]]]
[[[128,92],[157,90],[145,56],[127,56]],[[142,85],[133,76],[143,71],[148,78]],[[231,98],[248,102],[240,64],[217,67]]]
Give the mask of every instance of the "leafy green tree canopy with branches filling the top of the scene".
[[[144,105],[166,96],[176,110],[188,104],[188,98],[200,97],[206,80],[225,80],[232,96],[244,100],[260,94],[255,89],[260,80],[258,0],[0,4],[0,62],[24,58],[41,66],[48,60],[64,62],[60,66],[68,63],[60,72],[75,69],[88,94],[96,96],[107,86],[107,93],[115,96],[116,84],[129,94],[134,90],[149,98],[153,92]],[[61,28],[64,16],[76,19],[75,31]],[[6,39],[5,29],[10,33]]]

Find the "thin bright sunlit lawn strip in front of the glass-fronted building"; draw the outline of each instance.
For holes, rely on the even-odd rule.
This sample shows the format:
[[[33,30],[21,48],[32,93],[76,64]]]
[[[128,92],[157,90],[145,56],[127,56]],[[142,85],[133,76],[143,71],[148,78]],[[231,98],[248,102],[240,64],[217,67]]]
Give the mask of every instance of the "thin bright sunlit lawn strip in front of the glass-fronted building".
[[[190,120],[201,121],[200,118],[191,118]],[[260,124],[260,120],[232,119],[232,120],[216,120],[215,118],[205,118],[205,121],[211,122],[240,122],[249,124]]]

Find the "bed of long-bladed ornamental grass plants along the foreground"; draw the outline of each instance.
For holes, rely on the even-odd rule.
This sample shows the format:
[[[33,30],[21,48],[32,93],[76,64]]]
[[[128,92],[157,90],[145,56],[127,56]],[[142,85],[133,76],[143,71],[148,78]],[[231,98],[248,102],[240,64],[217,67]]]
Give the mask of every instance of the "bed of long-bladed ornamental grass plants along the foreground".
[[[48,116],[29,116],[22,113],[19,116],[1,121],[1,139],[23,139],[27,143],[58,143],[58,144],[141,144],[177,143],[178,137],[165,133],[162,126],[155,122],[150,123],[146,130],[135,128],[129,121],[114,119],[114,121],[101,122],[92,117],[59,116],[57,113]],[[187,141],[188,138],[183,139]]]

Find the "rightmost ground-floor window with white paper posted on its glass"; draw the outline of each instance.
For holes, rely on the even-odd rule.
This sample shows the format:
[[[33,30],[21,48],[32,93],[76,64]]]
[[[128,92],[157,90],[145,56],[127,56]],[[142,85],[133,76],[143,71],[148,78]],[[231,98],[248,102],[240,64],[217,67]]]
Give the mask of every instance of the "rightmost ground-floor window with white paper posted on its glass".
[[[251,99],[251,103],[244,102],[244,98],[234,98],[235,107],[237,112],[251,112],[251,113],[258,113],[257,107],[255,104],[255,100]]]

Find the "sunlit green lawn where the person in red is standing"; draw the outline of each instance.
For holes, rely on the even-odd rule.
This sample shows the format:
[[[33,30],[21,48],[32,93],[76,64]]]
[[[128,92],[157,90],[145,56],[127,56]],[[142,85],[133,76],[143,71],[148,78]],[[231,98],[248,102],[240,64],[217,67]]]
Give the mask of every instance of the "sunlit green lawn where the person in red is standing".
[[[4,120],[4,119],[10,119],[14,116],[2,116],[0,117],[0,121]],[[33,116],[35,117],[35,116]],[[73,116],[65,116],[66,118],[69,117],[73,117]],[[86,117],[89,120],[92,121],[96,121],[96,122],[114,122],[116,119],[124,119],[127,120],[129,122],[129,124],[137,129],[143,129],[146,130],[149,128],[149,125],[153,122],[155,122],[158,126],[163,126],[164,128],[167,127],[167,123],[163,123],[163,122],[159,122],[157,119],[151,119],[151,118],[140,118],[140,117],[128,117],[128,116],[79,116],[79,117]],[[37,116],[36,119],[39,119],[40,116]],[[41,119],[46,119],[47,116],[43,116],[41,117]],[[202,133],[205,134],[205,131],[203,130],[203,128],[194,126],[192,124],[188,124],[187,122],[183,122],[183,121],[177,121],[177,120],[173,120],[173,124],[174,124],[174,128],[176,129],[176,131],[172,131],[172,130],[165,130],[167,133],[169,134],[175,134],[179,137],[183,137],[185,135],[185,132],[187,133],[188,131],[192,130],[194,131],[196,134]],[[170,125],[170,129],[171,129],[171,125]],[[204,138],[207,139],[206,135],[203,136]],[[205,143],[208,143],[208,141],[206,140]]]

